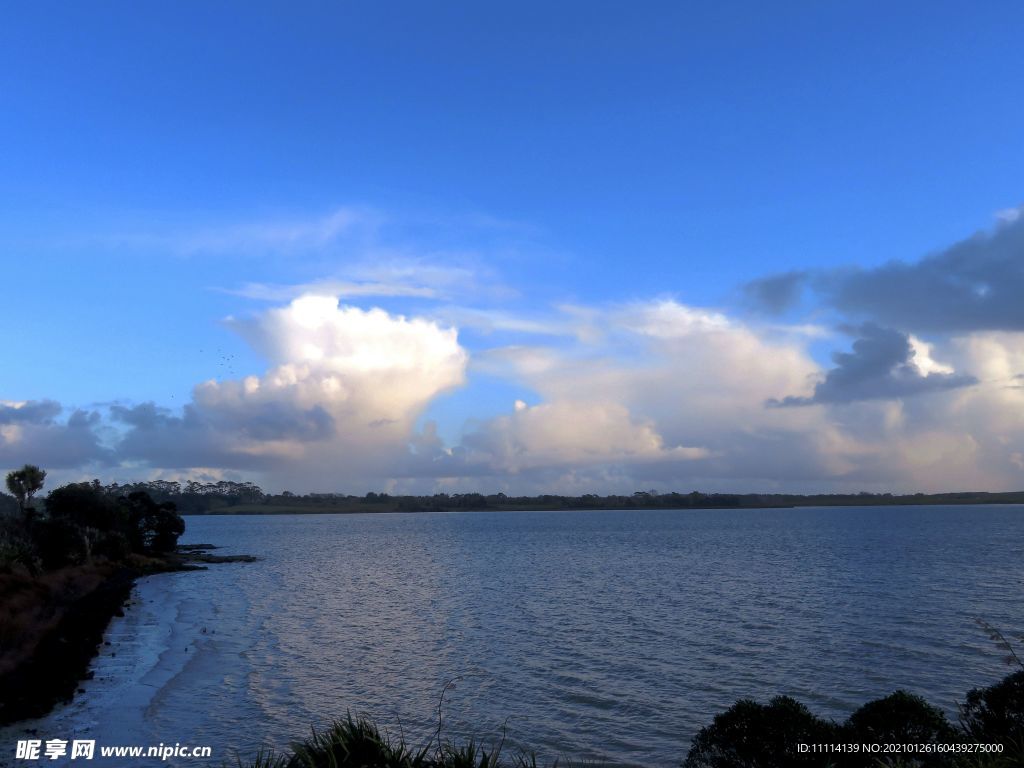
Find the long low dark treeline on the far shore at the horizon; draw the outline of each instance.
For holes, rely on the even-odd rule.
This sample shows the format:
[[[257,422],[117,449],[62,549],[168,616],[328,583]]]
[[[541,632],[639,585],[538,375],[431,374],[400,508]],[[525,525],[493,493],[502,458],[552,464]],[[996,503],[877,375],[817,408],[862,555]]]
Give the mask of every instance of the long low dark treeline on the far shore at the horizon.
[[[145,493],[155,502],[172,502],[179,514],[276,514],[331,512],[442,512],[452,510],[557,510],[557,509],[752,509],[764,507],[839,507],[906,504],[1024,504],[1024,490],[989,494],[659,494],[638,490],[629,496],[508,496],[506,494],[434,494],[391,496],[369,493],[267,494],[252,482],[196,482],[150,480],[99,485],[111,497]],[[13,500],[9,500],[13,502]],[[0,507],[3,500],[0,500]]]

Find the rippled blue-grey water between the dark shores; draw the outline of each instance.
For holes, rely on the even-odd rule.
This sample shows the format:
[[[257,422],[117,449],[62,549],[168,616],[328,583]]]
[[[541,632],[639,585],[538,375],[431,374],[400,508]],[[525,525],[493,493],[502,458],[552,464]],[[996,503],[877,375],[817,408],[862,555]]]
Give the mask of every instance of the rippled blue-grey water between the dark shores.
[[[904,688],[952,713],[1009,671],[973,617],[1024,632],[1020,507],[187,525],[183,542],[263,560],[141,582],[115,631],[150,639],[99,659],[63,727],[101,729],[120,707],[125,741],[208,743],[218,764],[348,710],[419,742],[458,678],[452,735],[507,723],[546,757],[667,766],[738,697],[842,718]]]

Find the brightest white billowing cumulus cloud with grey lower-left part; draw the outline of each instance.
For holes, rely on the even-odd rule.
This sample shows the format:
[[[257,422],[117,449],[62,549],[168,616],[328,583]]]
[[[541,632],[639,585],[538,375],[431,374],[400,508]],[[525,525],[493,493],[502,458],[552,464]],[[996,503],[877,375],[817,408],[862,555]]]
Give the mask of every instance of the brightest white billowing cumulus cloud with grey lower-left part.
[[[197,385],[178,417],[116,409],[131,429],[126,458],[156,467],[257,469],[297,486],[337,487],[400,463],[416,419],[462,384],[455,329],[382,309],[302,296],[231,319],[269,364],[262,375]]]

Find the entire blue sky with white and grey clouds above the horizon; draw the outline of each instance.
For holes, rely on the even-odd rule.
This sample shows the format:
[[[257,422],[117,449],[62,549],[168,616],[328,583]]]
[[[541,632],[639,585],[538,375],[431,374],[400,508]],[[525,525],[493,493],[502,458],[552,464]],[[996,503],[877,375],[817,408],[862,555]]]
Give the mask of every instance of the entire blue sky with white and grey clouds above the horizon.
[[[7,464],[353,493],[1024,485],[1024,425],[1006,426],[1024,321],[1001,293],[1024,258],[1018,4],[294,6],[3,12]],[[757,281],[786,274],[802,299],[765,301]],[[958,306],[955,286],[980,302],[959,324],[903,301]],[[294,382],[224,404],[232,382],[309,368],[305,294],[383,310],[392,374],[436,388],[365,414]],[[344,351],[376,321],[317,316],[334,335],[303,381],[378,386]],[[414,319],[454,331],[458,360],[426,331],[410,351]],[[294,338],[268,354],[267,334]],[[711,387],[743,424],[716,422],[699,382],[652,383],[766,359],[796,378]],[[216,402],[196,399],[209,380]],[[60,410],[30,420],[34,402]],[[166,409],[145,428],[167,453],[133,453],[142,427],[112,403]],[[317,408],[323,434],[255,426]],[[370,422],[394,430],[348,471]],[[439,453],[414,461],[432,424]]]

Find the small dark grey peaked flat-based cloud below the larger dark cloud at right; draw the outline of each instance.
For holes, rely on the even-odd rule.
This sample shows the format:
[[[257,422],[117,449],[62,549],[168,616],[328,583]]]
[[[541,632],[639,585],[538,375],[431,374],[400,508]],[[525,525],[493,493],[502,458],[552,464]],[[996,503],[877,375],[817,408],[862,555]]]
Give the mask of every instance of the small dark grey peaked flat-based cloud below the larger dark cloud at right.
[[[910,397],[925,392],[977,384],[973,376],[930,373],[913,365],[913,348],[906,334],[865,323],[856,329],[859,338],[852,352],[835,352],[831,369],[814,387],[811,397],[769,400],[772,407],[844,403]]]

